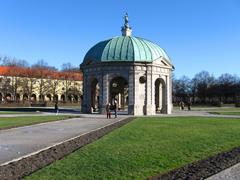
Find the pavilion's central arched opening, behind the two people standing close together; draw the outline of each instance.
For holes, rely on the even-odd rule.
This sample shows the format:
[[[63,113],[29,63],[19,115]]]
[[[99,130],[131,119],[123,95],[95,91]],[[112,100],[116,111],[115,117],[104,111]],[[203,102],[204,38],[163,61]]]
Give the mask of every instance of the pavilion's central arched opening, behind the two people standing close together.
[[[128,82],[123,77],[115,77],[111,80],[109,95],[112,104],[117,100],[118,110],[128,108]]]

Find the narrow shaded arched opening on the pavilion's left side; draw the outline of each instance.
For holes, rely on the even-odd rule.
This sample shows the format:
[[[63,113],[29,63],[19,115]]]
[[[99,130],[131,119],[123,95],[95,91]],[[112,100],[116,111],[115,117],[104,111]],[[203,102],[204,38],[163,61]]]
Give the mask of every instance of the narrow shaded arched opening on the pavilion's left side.
[[[99,111],[99,92],[100,87],[97,79],[94,79],[91,83],[91,111]]]

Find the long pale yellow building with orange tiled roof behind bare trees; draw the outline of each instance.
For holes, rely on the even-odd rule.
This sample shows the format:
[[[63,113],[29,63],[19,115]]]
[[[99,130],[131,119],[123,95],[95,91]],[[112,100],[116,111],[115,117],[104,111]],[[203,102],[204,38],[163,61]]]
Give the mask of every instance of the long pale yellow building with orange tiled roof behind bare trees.
[[[82,74],[0,66],[0,103],[80,103]]]

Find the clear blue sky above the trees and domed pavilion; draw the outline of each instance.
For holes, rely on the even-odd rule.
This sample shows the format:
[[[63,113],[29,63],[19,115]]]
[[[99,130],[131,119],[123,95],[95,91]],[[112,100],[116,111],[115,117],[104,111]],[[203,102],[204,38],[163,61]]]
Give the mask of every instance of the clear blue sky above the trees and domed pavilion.
[[[0,0],[0,55],[78,66],[101,40],[133,35],[159,44],[175,75],[240,76],[239,0]]]

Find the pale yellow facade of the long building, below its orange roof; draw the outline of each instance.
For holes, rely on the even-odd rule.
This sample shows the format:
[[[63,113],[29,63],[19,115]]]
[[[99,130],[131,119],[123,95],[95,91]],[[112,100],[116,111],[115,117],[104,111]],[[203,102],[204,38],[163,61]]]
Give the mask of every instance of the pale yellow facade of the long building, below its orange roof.
[[[15,91],[14,91],[15,88]],[[66,91],[68,88],[68,93]],[[7,102],[80,102],[81,80],[0,75],[0,104]]]

